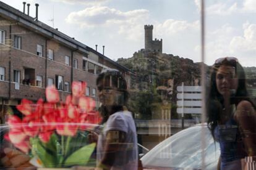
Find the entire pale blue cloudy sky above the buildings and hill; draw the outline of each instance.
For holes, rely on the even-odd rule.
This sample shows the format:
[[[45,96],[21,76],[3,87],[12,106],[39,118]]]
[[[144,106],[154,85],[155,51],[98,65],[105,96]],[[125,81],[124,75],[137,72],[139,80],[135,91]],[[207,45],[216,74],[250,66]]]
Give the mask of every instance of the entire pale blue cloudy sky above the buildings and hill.
[[[23,9],[23,0],[2,0]],[[39,20],[102,51],[110,59],[132,57],[144,47],[145,24],[154,25],[153,38],[163,39],[163,52],[200,61],[200,0],[27,0],[30,14],[39,3]],[[255,66],[256,1],[206,1],[208,65],[234,56]]]

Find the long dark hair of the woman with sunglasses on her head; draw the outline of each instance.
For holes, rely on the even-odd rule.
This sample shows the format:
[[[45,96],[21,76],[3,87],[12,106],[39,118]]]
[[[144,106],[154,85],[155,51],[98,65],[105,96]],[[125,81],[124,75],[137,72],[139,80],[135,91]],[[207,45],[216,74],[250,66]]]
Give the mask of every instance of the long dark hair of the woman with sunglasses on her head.
[[[242,68],[242,65],[238,62],[238,60],[236,58],[229,59],[229,57],[226,57],[222,58],[221,62],[215,62],[215,64],[211,68],[209,85],[210,92],[207,97],[207,124],[213,138],[214,129],[218,125],[218,121],[220,121],[220,114],[222,113],[224,107],[223,96],[218,92],[216,86],[216,73],[221,65],[235,68],[235,73],[238,80],[237,90],[234,94],[231,95],[230,103],[235,104],[237,107],[239,102],[241,102],[242,100],[247,100],[252,103],[253,107],[255,108],[254,102],[250,100],[247,93],[244,68]]]

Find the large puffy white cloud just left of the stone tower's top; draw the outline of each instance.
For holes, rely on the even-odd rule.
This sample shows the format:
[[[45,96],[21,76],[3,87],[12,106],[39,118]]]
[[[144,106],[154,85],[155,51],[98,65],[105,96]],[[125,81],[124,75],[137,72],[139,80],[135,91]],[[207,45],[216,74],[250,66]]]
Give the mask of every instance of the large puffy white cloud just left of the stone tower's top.
[[[122,34],[127,39],[142,38],[141,28],[143,23],[148,20],[149,11],[145,9],[121,10],[106,6],[93,6],[77,12],[71,12],[66,22],[77,24],[80,28],[92,29],[98,26],[105,28],[118,28],[117,33]],[[114,31],[114,29],[113,29]]]

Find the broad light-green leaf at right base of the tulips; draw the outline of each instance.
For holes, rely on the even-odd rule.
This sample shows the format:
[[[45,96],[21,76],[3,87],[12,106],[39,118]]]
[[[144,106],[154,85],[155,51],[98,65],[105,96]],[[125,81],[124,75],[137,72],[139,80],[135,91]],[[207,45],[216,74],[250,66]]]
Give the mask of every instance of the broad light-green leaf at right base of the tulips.
[[[79,150],[72,153],[64,162],[64,166],[71,166],[71,165],[86,165],[90,160],[90,156],[95,149],[96,144],[89,144],[86,145]]]

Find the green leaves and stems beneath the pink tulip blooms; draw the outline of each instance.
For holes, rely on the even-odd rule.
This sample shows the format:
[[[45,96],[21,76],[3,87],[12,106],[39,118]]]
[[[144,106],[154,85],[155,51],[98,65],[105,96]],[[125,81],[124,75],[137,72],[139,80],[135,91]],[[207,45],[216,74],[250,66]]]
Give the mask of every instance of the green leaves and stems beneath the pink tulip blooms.
[[[76,136],[58,136],[53,134],[47,143],[38,137],[30,138],[32,156],[36,156],[46,168],[95,165],[91,155],[96,144],[88,144],[88,132],[78,131]],[[92,163],[93,161],[93,163]]]

